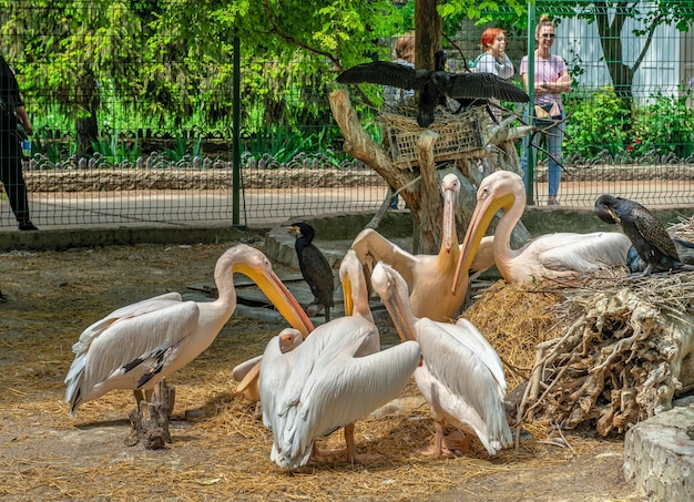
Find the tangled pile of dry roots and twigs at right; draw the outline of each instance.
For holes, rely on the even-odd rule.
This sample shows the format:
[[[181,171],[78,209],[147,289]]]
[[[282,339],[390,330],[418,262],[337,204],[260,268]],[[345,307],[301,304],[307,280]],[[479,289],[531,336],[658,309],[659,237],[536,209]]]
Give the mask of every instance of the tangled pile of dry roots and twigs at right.
[[[541,413],[563,429],[589,423],[608,436],[670,409],[683,382],[694,381],[692,285],[692,274],[592,277],[567,291],[557,306],[571,313],[565,334],[547,356],[547,345],[538,348],[533,376],[547,387],[542,395],[530,387],[521,421]]]

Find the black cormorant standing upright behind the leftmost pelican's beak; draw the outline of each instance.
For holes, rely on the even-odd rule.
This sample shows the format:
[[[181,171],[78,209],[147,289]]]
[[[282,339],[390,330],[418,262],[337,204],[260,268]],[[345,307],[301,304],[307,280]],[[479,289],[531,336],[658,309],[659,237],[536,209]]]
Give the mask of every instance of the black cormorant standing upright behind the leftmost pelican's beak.
[[[325,310],[325,320],[330,320],[330,307],[334,305],[333,293],[335,291],[335,277],[333,267],[320,249],[314,244],[316,230],[307,223],[293,223],[290,230],[298,234],[294,243],[296,257],[299,260],[299,268],[304,280],[310,287],[314,301],[310,305],[322,305]]]

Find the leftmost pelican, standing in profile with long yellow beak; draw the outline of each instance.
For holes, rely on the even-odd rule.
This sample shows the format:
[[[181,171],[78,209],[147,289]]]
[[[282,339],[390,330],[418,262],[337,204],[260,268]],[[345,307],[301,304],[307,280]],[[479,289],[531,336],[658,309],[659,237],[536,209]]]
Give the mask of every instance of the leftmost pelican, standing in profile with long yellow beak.
[[[216,263],[216,300],[183,301],[178,293],[167,293],[114,310],[88,327],[72,346],[75,358],[65,377],[70,413],[112,389],[132,389],[137,401],[150,399],[159,381],[200,356],[232,317],[234,273],[253,279],[302,334],[313,329],[265,255],[239,244]]]

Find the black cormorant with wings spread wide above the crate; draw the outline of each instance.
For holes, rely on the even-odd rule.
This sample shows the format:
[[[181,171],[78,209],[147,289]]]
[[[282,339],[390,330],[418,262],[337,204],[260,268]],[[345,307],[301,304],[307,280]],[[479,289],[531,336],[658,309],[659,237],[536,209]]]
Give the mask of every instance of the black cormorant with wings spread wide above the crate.
[[[442,57],[437,55],[437,66],[442,64]],[[527,103],[528,94],[521,88],[493,73],[449,73],[445,70],[415,70],[404,64],[388,61],[364,63],[345,70],[337,76],[337,82],[375,83],[400,89],[414,89],[419,93],[417,123],[428,127],[433,122],[437,104],[446,98],[490,99]]]

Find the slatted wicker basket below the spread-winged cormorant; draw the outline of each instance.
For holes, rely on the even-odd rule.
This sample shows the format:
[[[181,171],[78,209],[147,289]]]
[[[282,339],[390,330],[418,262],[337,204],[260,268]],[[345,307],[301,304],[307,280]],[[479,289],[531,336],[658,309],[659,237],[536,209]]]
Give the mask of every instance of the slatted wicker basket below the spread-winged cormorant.
[[[411,168],[419,162],[415,141],[423,129],[417,124],[410,109],[404,107],[400,111],[404,114],[381,113],[384,144],[397,167]],[[458,114],[437,107],[436,120],[429,126],[429,130],[439,135],[433,144],[433,161],[450,161],[460,157],[465,152],[483,147],[482,131],[488,122],[489,116],[482,106]]]

